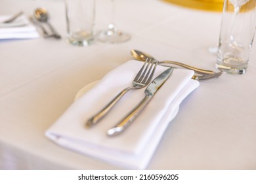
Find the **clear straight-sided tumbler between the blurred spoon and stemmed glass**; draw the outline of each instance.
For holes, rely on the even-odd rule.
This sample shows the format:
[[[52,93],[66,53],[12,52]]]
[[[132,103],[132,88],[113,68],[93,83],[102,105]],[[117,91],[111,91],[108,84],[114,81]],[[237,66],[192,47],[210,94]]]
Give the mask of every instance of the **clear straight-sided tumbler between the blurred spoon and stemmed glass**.
[[[65,0],[68,42],[88,46],[95,37],[95,0]]]

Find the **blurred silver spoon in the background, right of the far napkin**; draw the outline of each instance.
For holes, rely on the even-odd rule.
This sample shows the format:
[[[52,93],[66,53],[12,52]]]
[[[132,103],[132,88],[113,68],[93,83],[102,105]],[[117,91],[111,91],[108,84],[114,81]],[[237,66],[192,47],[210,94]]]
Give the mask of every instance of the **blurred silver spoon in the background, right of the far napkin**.
[[[45,24],[47,24],[52,33],[53,33],[53,37],[56,39],[61,39],[61,36],[55,31],[55,29],[53,28],[53,26],[49,23],[48,19],[49,19],[49,15],[47,10],[45,10],[44,8],[37,8],[33,14],[33,16],[35,17],[36,20],[38,20],[39,22],[43,22]]]

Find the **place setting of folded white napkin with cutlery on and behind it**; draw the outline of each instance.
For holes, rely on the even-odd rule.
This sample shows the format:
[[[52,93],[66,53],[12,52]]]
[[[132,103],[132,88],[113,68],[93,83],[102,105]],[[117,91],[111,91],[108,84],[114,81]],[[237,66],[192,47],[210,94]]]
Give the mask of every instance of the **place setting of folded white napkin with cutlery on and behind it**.
[[[222,74],[158,61],[139,50],[131,50],[131,56],[77,92],[74,103],[45,135],[64,148],[117,167],[145,169],[182,101],[200,80]]]

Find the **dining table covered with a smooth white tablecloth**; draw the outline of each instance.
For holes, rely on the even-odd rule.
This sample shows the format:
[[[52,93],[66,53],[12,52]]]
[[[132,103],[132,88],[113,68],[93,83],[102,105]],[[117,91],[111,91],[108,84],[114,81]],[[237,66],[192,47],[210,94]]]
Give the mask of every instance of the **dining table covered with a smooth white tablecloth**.
[[[111,1],[96,0],[96,33],[112,21]],[[133,60],[132,49],[215,72],[221,11],[161,0],[114,1],[116,27],[131,35],[115,44],[66,41],[62,0],[1,0],[0,15],[49,12],[62,39],[0,40],[0,169],[125,169],[56,145],[45,131],[74,103],[81,88]],[[246,35],[244,35],[246,36]],[[179,106],[146,169],[256,169],[256,46],[244,75],[200,80]],[[157,132],[156,132],[157,133]]]

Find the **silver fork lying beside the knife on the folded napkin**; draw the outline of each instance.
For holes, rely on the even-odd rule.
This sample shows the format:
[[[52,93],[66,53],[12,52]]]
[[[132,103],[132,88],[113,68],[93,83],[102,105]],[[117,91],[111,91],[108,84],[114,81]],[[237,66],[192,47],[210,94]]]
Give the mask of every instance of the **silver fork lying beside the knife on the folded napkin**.
[[[95,114],[95,116],[91,117],[85,123],[85,127],[88,128],[98,123],[98,121],[101,120],[110,111],[110,109],[114,107],[114,105],[116,105],[119,99],[121,99],[121,97],[125,95],[125,93],[133,89],[140,89],[147,86],[152,80],[152,77],[156,70],[156,65],[158,65],[158,61],[156,61],[155,59],[151,59],[151,58],[146,59],[139,73],[137,73],[137,75],[135,76],[132,85],[123,89],[118,95],[116,95],[116,97],[114,97],[114,99],[112,99],[112,101],[110,101],[110,103],[108,103],[108,105],[106,105],[106,107],[102,108],[100,112]]]

